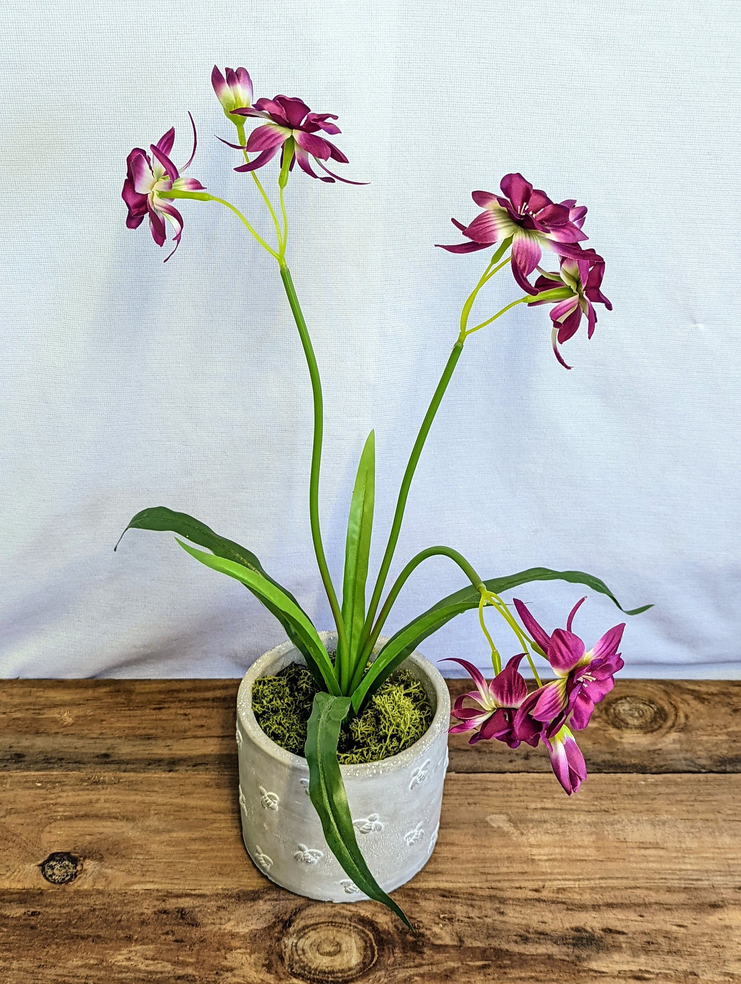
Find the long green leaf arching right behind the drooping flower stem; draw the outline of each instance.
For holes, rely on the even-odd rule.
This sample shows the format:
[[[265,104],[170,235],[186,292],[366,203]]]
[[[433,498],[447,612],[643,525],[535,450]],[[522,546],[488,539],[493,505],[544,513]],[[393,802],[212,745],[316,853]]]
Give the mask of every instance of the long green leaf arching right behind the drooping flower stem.
[[[626,610],[603,581],[582,571],[551,571],[547,567],[531,567],[519,574],[511,574],[505,578],[492,578],[490,581],[485,581],[484,584],[490,591],[501,594],[502,591],[508,591],[520,584],[528,584],[532,581],[568,581],[570,584],[586,584],[592,590],[606,594],[626,615],[640,615],[641,612],[645,612],[651,607],[650,605],[642,605],[640,608]],[[355,711],[360,711],[368,697],[375,693],[384,680],[420,643],[442,628],[446,622],[450,622],[456,615],[460,615],[470,608],[475,608],[480,600],[481,594],[475,587],[470,585],[463,587],[460,591],[449,594],[438,601],[436,605],[418,615],[417,618],[400,629],[395,636],[392,636],[376,656],[360,686],[352,694],[352,707]]]

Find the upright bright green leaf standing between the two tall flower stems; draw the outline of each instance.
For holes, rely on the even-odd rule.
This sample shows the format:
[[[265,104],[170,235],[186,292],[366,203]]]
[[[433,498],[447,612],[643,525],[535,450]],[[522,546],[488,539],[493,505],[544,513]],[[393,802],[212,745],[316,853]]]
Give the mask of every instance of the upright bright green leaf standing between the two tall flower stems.
[[[368,577],[368,555],[373,528],[375,481],[376,438],[371,431],[357,466],[344,548],[342,621],[347,632],[350,661],[357,652],[365,622],[365,582]]]

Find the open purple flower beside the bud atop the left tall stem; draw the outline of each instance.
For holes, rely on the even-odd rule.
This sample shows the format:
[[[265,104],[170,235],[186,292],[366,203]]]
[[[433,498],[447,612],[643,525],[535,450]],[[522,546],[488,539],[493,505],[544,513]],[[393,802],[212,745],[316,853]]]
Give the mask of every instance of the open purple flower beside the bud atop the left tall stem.
[[[291,168],[295,159],[303,171],[313,178],[319,178],[321,181],[334,183],[335,180],[338,180],[343,181],[345,184],[363,183],[361,181],[348,181],[346,178],[340,178],[338,174],[325,167],[322,162],[332,158],[333,160],[340,161],[340,163],[347,163],[347,157],[342,154],[339,148],[335,147],[334,144],[330,143],[324,137],[317,136],[319,130],[329,133],[332,136],[340,133],[340,128],[331,122],[338,118],[334,113],[313,113],[302,99],[292,98],[287,95],[277,95],[275,99],[258,99],[254,106],[236,108],[234,109],[234,115],[257,116],[268,120],[263,126],[259,126],[257,130],[252,131],[247,140],[246,147],[239,147],[235,144],[228,145],[240,151],[246,150],[248,154],[258,153],[254,160],[247,164],[242,164],[240,167],[235,167],[235,171],[254,171],[258,167],[264,167],[269,160],[272,160],[278,154],[281,148],[284,150],[287,141],[291,140],[292,153],[295,154],[295,157],[291,158]],[[227,142],[223,141],[222,143],[225,144]],[[312,170],[312,157],[315,163],[323,171],[326,171],[327,177],[322,174],[316,174]],[[280,155],[280,159],[282,164],[282,154]]]

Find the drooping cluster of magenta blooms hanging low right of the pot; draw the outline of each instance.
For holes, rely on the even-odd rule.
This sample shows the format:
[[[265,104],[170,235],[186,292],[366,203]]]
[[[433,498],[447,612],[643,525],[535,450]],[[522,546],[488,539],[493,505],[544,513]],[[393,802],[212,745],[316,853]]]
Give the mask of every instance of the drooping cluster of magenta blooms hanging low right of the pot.
[[[617,650],[625,623],[613,626],[590,649],[571,631],[574,615],[584,601],[582,598],[572,609],[566,629],[556,629],[549,636],[525,604],[515,598],[525,630],[555,674],[555,680],[531,694],[519,671],[525,653],[513,656],[488,684],[472,663],[453,660],[472,677],[476,690],[463,694],[454,704],[452,714],[459,723],[451,727],[451,733],[473,731],[470,745],[496,738],[510,748],[522,742],[534,748],[542,739],[556,777],[569,795],[587,778],[584,756],[572,729],[587,727],[594,705],[609,694],[615,673],[624,665]],[[466,700],[475,707],[466,706]]]

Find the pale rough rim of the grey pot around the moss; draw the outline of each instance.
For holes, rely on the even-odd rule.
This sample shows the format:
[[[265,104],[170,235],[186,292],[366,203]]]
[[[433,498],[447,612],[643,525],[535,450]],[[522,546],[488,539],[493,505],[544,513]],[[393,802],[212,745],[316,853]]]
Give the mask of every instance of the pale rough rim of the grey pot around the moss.
[[[337,633],[335,632],[320,632],[319,637],[325,644],[337,642]],[[383,646],[387,641],[386,637],[381,636],[376,646]],[[294,755],[293,752],[286,751],[286,749],[281,748],[274,742],[272,738],[269,738],[258,724],[257,718],[252,710],[252,685],[255,680],[265,675],[265,667],[268,663],[275,661],[291,649],[295,649],[295,646],[290,640],[280,643],[279,646],[274,646],[274,648],[259,656],[242,677],[242,682],[239,684],[239,691],[237,692],[237,726],[241,726],[250,740],[280,765],[287,766],[289,769],[307,771],[309,765],[306,759],[302,756]],[[301,654],[298,650],[296,651],[301,661],[303,661]],[[388,759],[381,759],[379,762],[366,762],[357,766],[340,766],[340,772],[345,780],[378,775],[379,771],[388,769],[404,769],[423,756],[432,747],[442,731],[447,733],[450,722],[451,699],[442,673],[421,652],[410,653],[406,657],[406,660],[404,660],[404,662],[407,661],[413,663],[425,674],[435,692],[437,707],[430,726],[421,738],[417,739],[413,745],[410,745],[398,755],[389,756]]]

